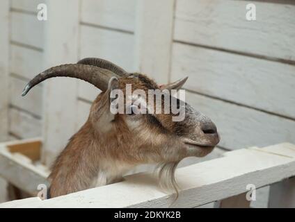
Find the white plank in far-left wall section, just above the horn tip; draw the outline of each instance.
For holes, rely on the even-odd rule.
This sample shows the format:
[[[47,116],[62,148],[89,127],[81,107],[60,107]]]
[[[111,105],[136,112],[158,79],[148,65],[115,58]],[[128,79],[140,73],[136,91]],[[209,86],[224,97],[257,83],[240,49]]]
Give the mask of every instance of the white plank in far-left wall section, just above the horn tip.
[[[42,69],[43,53],[26,47],[11,44],[10,72],[25,78],[33,78]]]

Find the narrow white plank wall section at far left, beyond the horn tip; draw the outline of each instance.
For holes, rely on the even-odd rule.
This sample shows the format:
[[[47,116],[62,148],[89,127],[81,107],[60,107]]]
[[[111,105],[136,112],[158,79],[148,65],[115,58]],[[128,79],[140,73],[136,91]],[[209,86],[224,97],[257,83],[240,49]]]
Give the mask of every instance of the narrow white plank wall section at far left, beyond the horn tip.
[[[40,2],[10,1],[10,139],[40,136],[42,131],[42,85],[29,96],[21,96],[26,83],[43,69],[44,28],[36,18]]]

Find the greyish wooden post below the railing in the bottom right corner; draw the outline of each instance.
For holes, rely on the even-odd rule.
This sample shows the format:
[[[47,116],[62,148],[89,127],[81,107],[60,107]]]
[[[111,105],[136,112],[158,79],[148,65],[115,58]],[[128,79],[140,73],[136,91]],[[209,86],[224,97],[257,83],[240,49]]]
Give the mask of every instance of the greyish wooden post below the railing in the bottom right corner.
[[[295,208],[295,177],[270,186],[269,207]]]

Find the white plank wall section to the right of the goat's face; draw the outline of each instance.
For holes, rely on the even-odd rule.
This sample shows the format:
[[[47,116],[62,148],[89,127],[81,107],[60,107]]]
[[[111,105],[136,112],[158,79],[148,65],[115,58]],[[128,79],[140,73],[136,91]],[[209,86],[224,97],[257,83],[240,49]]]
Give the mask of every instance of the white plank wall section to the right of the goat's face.
[[[171,78],[208,114],[228,149],[295,142],[295,6],[177,0]]]

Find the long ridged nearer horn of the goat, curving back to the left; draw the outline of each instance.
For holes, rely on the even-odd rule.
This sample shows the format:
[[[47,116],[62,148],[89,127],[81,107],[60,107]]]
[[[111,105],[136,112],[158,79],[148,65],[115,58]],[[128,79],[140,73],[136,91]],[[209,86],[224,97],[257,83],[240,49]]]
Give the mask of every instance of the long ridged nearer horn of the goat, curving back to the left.
[[[47,78],[52,77],[72,77],[79,78],[88,83],[95,85],[95,87],[106,91],[108,88],[108,83],[111,77],[116,76],[112,71],[107,69],[102,69],[99,67],[94,67],[92,65],[82,65],[82,64],[66,64],[59,65],[57,67],[51,67],[43,71],[42,73],[35,76],[27,85],[24,87],[22,96],[25,96],[29,90],[46,80]]]

